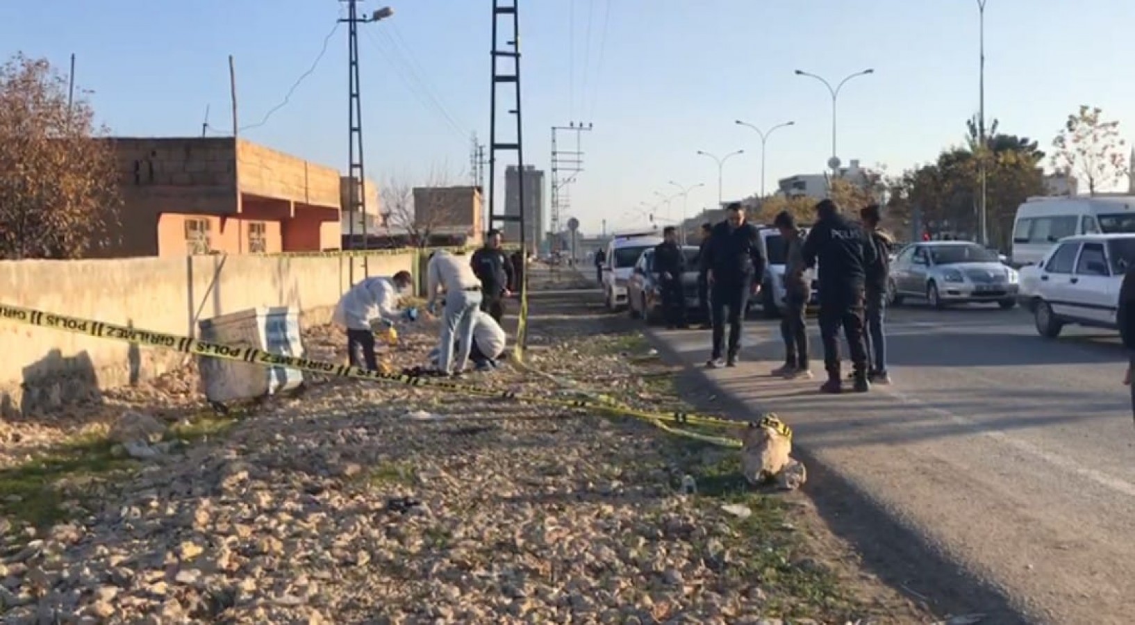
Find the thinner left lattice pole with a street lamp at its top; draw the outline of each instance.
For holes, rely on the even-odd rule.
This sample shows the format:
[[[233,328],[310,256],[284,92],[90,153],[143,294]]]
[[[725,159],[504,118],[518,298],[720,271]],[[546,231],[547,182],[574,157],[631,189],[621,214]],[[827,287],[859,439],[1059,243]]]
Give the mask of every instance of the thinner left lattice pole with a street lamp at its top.
[[[367,170],[363,167],[362,150],[362,99],[359,94],[359,24],[379,22],[394,15],[394,9],[382,7],[368,16],[359,16],[359,0],[339,0],[347,3],[347,17],[339,19],[347,25],[347,192],[348,204],[347,214],[347,245],[354,248],[354,223],[362,213],[362,248],[367,250],[370,242],[367,237]],[[363,276],[370,273],[370,265],[365,255],[362,257]],[[354,280],[354,261],[351,261],[351,269],[347,278],[352,285]]]

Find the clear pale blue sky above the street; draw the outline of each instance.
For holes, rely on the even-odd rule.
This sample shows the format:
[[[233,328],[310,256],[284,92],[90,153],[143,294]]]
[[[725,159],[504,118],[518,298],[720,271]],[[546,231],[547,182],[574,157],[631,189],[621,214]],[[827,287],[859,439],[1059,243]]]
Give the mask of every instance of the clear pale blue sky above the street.
[[[360,26],[368,176],[421,184],[440,171],[463,183],[469,135],[488,137],[491,0],[361,7],[385,3],[396,11],[389,22]],[[691,194],[690,213],[713,203],[716,166],[697,150],[745,149],[725,166],[724,195],[756,191],[759,141],[737,118],[797,123],[768,141],[770,188],[822,170],[831,100],[794,68],[833,83],[875,69],[840,95],[839,152],[892,174],[959,143],[977,110],[976,0],[521,3],[526,160],[547,169],[553,125],[595,124],[564,216],[585,230],[604,218],[608,228],[633,222],[628,210],[671,192],[671,179],[706,184]],[[311,66],[340,8],[336,0],[7,0],[0,53],[47,57],[62,71],[76,53],[76,81],[94,92],[116,134],[195,135],[207,105],[211,125],[230,127],[228,54],[241,124],[255,124]],[[1088,103],[1135,137],[1135,2],[989,0],[985,27],[986,113],[1002,130],[1046,146]],[[346,84],[343,27],[288,104],[244,136],[345,168]]]

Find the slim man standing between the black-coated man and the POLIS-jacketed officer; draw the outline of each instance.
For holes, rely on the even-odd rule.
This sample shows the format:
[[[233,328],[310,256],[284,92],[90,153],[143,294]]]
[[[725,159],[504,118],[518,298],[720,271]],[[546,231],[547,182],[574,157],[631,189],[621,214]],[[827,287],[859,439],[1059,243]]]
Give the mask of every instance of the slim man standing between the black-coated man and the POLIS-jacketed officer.
[[[806,315],[812,296],[812,279],[804,264],[804,236],[796,225],[796,218],[788,211],[781,211],[773,219],[773,226],[784,239],[784,314],[781,316],[784,366],[773,370],[773,375],[790,380],[810,379]]]

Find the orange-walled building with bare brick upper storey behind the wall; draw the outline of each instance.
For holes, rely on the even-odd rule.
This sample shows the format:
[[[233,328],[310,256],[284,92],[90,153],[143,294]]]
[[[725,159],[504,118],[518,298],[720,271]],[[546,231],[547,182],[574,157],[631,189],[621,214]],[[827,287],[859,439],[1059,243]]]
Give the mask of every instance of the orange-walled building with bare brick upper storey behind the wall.
[[[339,245],[339,172],[234,137],[107,140],[121,230],[104,256],[308,252]]]

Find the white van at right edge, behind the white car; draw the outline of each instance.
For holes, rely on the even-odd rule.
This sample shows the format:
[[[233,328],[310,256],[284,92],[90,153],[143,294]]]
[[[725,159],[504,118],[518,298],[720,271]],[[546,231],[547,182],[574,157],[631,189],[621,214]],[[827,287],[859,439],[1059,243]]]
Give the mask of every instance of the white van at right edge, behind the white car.
[[[1029,197],[1012,227],[1014,267],[1039,263],[1063,237],[1135,233],[1135,196]]]

